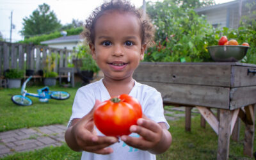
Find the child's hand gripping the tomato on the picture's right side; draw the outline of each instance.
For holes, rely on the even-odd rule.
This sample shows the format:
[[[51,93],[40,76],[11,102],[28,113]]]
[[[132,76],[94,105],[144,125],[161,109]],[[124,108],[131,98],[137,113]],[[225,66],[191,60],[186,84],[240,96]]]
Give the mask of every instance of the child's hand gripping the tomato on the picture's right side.
[[[157,124],[145,115],[143,115],[143,118],[138,119],[137,124],[132,125],[130,131],[140,134],[139,138],[121,136],[121,140],[127,145],[141,150],[148,150],[153,154],[160,154],[170,147],[172,136],[166,129],[165,124]]]

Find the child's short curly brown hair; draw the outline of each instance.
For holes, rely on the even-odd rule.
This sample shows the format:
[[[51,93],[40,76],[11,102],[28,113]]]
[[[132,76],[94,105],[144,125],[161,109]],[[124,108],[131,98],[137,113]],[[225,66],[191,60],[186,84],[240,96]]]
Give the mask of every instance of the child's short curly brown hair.
[[[143,11],[136,9],[134,5],[125,0],[111,0],[96,8],[92,15],[86,19],[84,24],[84,31],[81,35],[86,38],[86,42],[94,44],[95,40],[95,24],[99,17],[109,10],[118,10],[122,12],[133,13],[141,23],[141,44],[151,45],[154,39],[154,27],[149,22],[148,15],[143,15]]]

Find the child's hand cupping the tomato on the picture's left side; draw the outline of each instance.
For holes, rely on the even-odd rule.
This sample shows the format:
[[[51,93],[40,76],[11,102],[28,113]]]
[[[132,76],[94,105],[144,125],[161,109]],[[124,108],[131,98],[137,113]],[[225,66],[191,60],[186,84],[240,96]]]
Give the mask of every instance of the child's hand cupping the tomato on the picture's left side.
[[[72,122],[72,127],[68,128],[65,134],[67,144],[73,150],[84,150],[96,154],[110,154],[112,148],[106,148],[113,143],[116,143],[117,138],[110,136],[97,136],[94,129],[93,112],[100,101],[96,100],[92,111],[81,119],[76,120],[76,124]],[[73,142],[72,142],[73,140]]]

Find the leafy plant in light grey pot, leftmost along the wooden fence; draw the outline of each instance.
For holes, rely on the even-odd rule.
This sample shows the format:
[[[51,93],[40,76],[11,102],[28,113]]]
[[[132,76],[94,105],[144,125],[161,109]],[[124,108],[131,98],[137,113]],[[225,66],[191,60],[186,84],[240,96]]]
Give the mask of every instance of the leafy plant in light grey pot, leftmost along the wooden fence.
[[[12,68],[4,72],[4,77],[6,77],[8,81],[8,88],[20,88],[24,72],[22,70]]]

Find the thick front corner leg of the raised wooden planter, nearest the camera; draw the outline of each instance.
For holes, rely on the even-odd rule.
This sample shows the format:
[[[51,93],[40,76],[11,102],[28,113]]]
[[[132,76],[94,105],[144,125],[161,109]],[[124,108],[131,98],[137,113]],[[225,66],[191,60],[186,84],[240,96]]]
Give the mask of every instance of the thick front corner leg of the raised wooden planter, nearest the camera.
[[[231,119],[230,110],[220,109],[217,159],[228,159]]]

